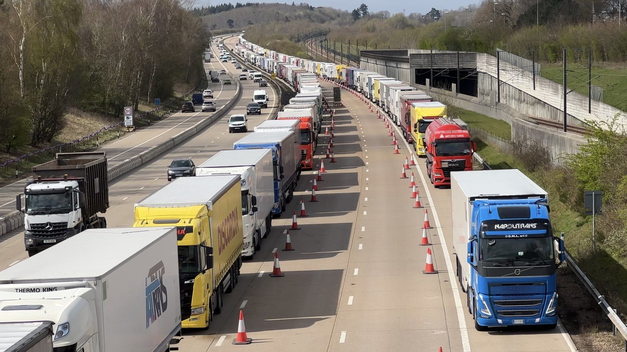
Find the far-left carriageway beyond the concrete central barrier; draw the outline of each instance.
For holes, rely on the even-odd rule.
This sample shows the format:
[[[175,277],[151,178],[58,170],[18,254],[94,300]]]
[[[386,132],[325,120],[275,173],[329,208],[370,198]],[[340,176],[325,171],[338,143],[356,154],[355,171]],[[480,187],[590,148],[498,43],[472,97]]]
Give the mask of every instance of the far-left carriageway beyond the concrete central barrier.
[[[222,70],[226,68],[226,66],[219,61],[218,46],[211,45],[211,50],[214,52],[215,57],[211,58],[211,62],[203,64],[204,70],[209,73],[209,70]],[[224,105],[226,101],[233,98],[236,85],[233,83],[230,86],[224,86],[221,81],[219,83],[209,82],[208,88],[206,89],[214,91],[216,107],[219,108],[221,105]],[[134,157],[141,152],[145,152],[145,150],[174,137],[177,133],[184,131],[186,128],[201,122],[211,115],[213,115],[213,113],[203,113],[200,111],[200,106],[196,105],[195,113],[181,113],[179,111],[149,127],[139,128],[135,132],[127,133],[123,138],[103,143],[101,147],[98,148],[98,151],[107,152],[108,167],[113,167],[124,162],[124,160]],[[31,179],[31,177],[28,177],[13,182],[13,184],[0,187],[0,217],[15,210],[15,196],[24,192],[24,184]]]

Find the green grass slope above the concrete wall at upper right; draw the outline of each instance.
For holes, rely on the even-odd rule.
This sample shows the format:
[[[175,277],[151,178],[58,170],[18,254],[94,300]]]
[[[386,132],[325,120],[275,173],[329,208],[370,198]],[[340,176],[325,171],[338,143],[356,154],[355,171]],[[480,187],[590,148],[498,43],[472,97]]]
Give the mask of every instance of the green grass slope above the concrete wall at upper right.
[[[569,63],[567,65],[568,88],[575,89],[582,95],[588,95],[588,68],[587,63]],[[564,84],[562,64],[542,64],[540,75],[559,84]],[[592,68],[592,84],[603,89],[603,102],[618,108],[627,109],[627,68],[616,66],[615,68]]]

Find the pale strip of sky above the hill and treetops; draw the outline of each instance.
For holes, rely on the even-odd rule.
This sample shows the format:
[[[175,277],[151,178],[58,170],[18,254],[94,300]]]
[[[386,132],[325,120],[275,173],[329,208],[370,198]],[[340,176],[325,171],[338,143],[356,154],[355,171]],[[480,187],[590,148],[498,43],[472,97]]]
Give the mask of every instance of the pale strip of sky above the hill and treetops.
[[[218,5],[223,3],[231,3],[235,4],[240,1],[240,3],[246,3],[246,0],[196,0],[196,3],[200,5]],[[291,0],[275,0],[275,1],[261,1],[261,0],[250,0],[251,2],[259,2],[259,3],[288,3],[291,4]],[[310,1],[298,1],[294,0],[295,3],[308,3],[311,6],[330,6],[333,8],[340,8],[343,10],[351,11],[354,8],[359,7],[361,3],[365,3],[368,6],[368,10],[371,12],[383,11],[387,10],[391,14],[402,13],[403,9],[405,10],[405,14],[410,13],[428,13],[432,7],[436,9],[457,9],[460,6],[468,6],[469,4],[476,3],[478,0],[440,0],[437,2],[431,1],[410,1],[408,3],[407,0],[386,0],[386,1],[367,1],[367,0],[310,0]],[[411,3],[411,4],[410,4]]]

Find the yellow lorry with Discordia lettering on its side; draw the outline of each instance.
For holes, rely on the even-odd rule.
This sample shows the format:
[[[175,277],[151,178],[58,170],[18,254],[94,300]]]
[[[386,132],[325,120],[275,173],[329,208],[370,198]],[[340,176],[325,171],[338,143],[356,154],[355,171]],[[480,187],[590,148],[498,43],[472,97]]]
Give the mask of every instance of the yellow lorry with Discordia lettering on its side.
[[[240,182],[240,175],[184,177],[135,204],[133,227],[176,226],[183,329],[208,329],[238,282]]]

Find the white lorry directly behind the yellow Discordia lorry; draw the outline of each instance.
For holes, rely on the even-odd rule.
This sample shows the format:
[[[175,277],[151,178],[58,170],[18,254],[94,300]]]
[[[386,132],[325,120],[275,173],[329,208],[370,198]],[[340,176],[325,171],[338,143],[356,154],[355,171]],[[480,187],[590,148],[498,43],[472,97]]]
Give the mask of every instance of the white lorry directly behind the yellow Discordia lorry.
[[[273,120],[268,120],[273,121]],[[221,150],[198,165],[196,176],[239,175],[244,239],[241,256],[250,259],[270,234],[274,204],[274,168],[268,149]]]

